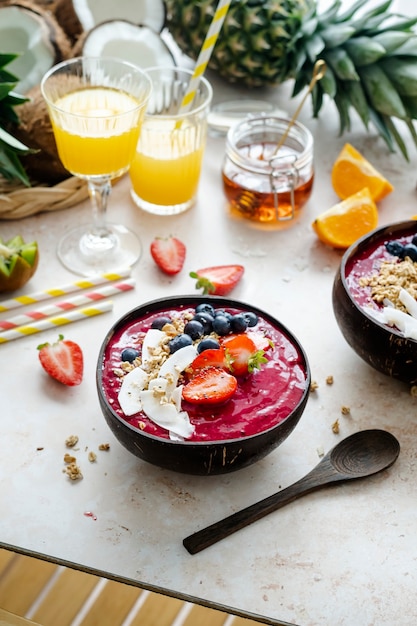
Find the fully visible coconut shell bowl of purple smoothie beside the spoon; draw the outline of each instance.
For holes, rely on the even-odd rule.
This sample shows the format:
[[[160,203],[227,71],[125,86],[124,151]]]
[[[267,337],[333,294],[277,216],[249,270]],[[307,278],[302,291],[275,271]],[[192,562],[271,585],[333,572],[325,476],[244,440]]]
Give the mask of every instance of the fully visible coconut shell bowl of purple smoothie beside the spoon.
[[[207,312],[207,305],[214,310],[214,316],[213,311]],[[168,326],[165,325],[167,320],[161,326],[161,317],[170,320]],[[153,371],[153,360],[159,358],[161,333],[174,337],[188,332],[192,335],[189,327],[184,328],[184,323],[191,319],[195,322],[195,317],[203,327],[203,334],[198,327],[196,334],[200,333],[199,337],[194,334],[194,339],[186,340],[182,350],[176,346],[175,351],[169,345],[173,339],[169,338],[165,349],[168,353],[165,355],[166,364],[157,366],[157,383],[152,386],[149,372]],[[216,323],[213,322],[214,317]],[[236,317],[240,321],[242,317],[246,320],[243,327],[239,327]],[[228,332],[227,328],[222,328],[221,333],[225,333],[222,335],[213,330],[214,326],[219,330],[218,324],[222,321],[219,318],[223,321],[226,318],[233,324]],[[231,376],[237,381],[235,391],[228,399],[211,404],[207,403],[207,399],[204,401],[204,395],[197,394],[197,399],[193,397],[190,401],[191,392],[187,395],[185,389],[189,388],[190,380],[195,382],[193,377],[196,373],[201,374],[197,366],[191,366],[190,362],[196,364],[194,359],[204,354],[204,359],[207,357],[210,361],[216,349],[215,354],[219,354],[218,348],[212,346],[210,353],[206,348],[201,349],[199,344],[204,339],[214,339],[219,343],[220,350],[231,354],[229,348],[224,348],[226,344],[223,342],[242,334],[251,338],[255,352],[260,351],[258,354],[262,356],[262,363],[253,372],[243,375],[233,376],[231,370],[226,373],[226,378]],[[126,363],[126,349],[137,350],[137,360]],[[135,352],[129,355],[132,358]],[[168,362],[171,365],[167,365]],[[208,368],[212,370],[217,366],[209,363]],[[138,369],[147,372],[148,382],[143,382],[146,376]],[[203,370],[207,371],[205,365]],[[217,369],[216,375],[219,375]],[[128,376],[133,386],[127,382],[130,380]],[[160,406],[155,404],[153,397],[149,398],[149,394],[155,395],[155,387],[161,391],[161,377],[170,381],[170,404],[174,402],[174,395],[176,398],[176,408],[170,409],[172,413],[168,418],[169,424],[174,426],[164,422],[161,427]],[[172,377],[176,391],[170,387]],[[139,379],[140,382],[137,382]],[[194,475],[236,471],[275,450],[298,424],[307,403],[310,382],[306,354],[287,328],[256,307],[219,296],[176,296],[134,308],[108,331],[97,363],[100,407],[122,446],[143,461]],[[166,387],[167,384],[164,384]],[[165,394],[162,403],[167,400],[168,391]],[[186,419],[182,421],[184,413]],[[170,421],[172,416],[173,421]]]

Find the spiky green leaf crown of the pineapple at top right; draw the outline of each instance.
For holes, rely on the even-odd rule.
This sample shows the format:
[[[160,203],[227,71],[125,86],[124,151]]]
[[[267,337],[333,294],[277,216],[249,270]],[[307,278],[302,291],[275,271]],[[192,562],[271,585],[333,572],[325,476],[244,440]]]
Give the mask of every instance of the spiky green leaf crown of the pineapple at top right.
[[[366,3],[358,0],[339,13],[338,0],[321,15],[315,7],[305,15],[303,51],[292,72],[293,96],[308,85],[315,61],[322,58],[327,71],[312,92],[314,117],[327,95],[337,107],[341,133],[350,129],[353,109],[366,128],[370,123],[376,127],[390,150],[396,144],[408,158],[393,118],[405,122],[417,145],[417,17],[387,13],[392,0],[357,15]]]

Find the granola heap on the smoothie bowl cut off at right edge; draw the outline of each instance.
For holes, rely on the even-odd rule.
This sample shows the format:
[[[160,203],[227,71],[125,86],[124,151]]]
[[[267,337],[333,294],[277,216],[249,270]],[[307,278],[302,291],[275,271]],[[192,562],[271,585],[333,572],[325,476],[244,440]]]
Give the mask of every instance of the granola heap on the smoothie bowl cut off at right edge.
[[[372,299],[378,304],[389,300],[397,309],[406,311],[399,300],[401,289],[417,299],[417,263],[409,257],[402,261],[383,261],[377,274],[359,279],[361,287],[370,287]]]

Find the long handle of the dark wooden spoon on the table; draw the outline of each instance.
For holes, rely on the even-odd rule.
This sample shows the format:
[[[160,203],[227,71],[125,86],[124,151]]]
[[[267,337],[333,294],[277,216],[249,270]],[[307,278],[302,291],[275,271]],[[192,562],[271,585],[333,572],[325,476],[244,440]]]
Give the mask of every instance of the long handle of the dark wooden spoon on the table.
[[[318,472],[319,467],[322,470],[320,472]],[[214,524],[189,535],[183,540],[183,545],[190,554],[196,554],[197,552],[213,545],[217,541],[228,537],[237,530],[240,530],[252,522],[256,522],[269,513],[285,506],[286,504],[293,502],[297,498],[307,493],[311,493],[312,491],[323,487],[325,484],[346,480],[347,478],[349,477],[335,474],[331,466],[328,465],[326,467],[325,465],[322,465],[322,463],[319,463],[319,465],[307,474],[307,476],[304,476],[304,478],[301,478],[299,481],[290,485],[286,489],[283,489],[272,496],[268,496],[260,502],[256,502],[241,511],[237,511],[232,515],[229,515],[229,517],[226,517],[219,522],[215,522]]]

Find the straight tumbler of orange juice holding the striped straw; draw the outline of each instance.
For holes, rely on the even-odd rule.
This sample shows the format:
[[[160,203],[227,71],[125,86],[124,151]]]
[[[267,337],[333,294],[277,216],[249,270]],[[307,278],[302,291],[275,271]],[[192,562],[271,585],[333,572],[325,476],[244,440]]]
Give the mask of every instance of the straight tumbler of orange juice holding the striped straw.
[[[193,206],[207,137],[212,88],[200,78],[191,105],[182,101],[192,72],[178,67],[146,70],[152,81],[129,175],[134,202],[148,213],[175,215]]]

